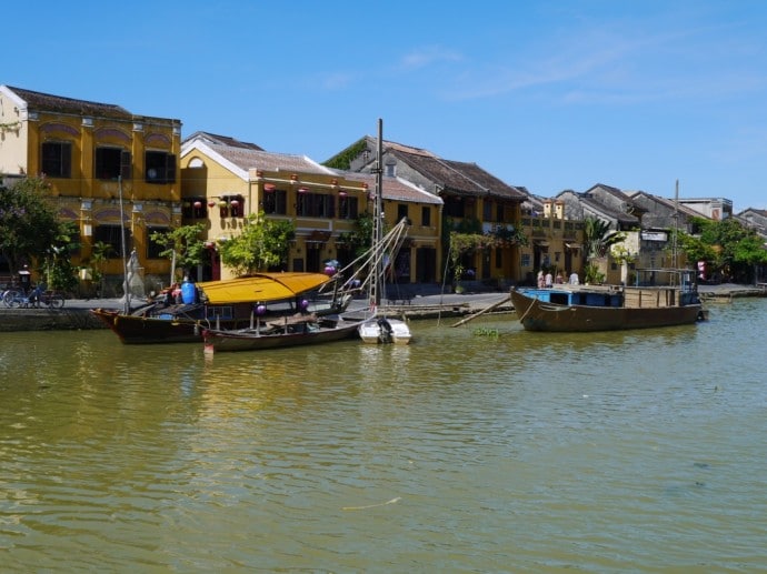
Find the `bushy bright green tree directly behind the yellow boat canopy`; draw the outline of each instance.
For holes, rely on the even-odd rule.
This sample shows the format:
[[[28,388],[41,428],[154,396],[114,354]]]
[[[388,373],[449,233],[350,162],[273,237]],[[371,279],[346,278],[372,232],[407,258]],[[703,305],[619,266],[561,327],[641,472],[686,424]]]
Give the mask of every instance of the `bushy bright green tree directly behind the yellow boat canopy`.
[[[290,221],[267,219],[263,212],[250,214],[242,232],[226,241],[221,246],[221,261],[236,275],[285,265],[290,241],[296,230]]]

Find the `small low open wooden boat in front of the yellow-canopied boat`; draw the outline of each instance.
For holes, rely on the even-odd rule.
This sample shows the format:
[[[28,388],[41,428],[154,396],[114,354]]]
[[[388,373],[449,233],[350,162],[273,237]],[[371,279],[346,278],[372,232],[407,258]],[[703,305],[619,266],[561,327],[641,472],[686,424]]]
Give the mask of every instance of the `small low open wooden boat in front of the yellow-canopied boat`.
[[[358,325],[358,322],[345,321],[338,315],[318,318],[299,314],[235,331],[205,329],[202,338],[207,353],[261,351],[349,339],[357,334]]]

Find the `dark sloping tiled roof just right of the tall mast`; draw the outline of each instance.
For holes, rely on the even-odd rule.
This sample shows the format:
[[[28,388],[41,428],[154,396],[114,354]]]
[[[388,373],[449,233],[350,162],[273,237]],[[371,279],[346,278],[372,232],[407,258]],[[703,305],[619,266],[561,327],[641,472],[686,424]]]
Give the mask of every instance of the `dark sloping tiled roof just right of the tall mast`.
[[[524,201],[526,194],[491,175],[476,163],[392,150],[392,154],[447,191]]]

